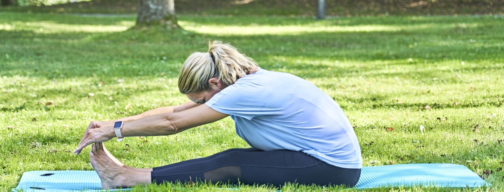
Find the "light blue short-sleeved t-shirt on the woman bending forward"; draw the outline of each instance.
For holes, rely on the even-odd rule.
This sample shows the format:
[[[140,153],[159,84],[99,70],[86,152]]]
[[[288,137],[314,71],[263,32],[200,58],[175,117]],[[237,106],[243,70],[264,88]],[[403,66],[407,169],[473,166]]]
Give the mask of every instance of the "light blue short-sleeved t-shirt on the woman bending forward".
[[[362,167],[345,113],[329,95],[295,75],[260,68],[205,104],[230,115],[236,134],[252,147],[302,151],[331,165]]]

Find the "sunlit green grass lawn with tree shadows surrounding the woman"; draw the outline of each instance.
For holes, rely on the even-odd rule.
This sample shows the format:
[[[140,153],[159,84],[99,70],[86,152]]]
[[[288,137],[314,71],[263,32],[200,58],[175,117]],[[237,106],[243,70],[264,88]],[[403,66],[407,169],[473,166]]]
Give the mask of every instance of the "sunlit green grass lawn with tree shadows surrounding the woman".
[[[493,184],[480,190],[504,190],[503,17],[179,20],[187,31],[156,33],[128,30],[135,17],[0,13],[0,190],[14,188],[25,171],[93,170],[89,147],[71,153],[89,123],[188,101],[178,92],[179,69],[210,39],[334,98],[354,127],[364,166],[457,163]],[[248,147],[230,118],[105,145],[124,164],[143,168]],[[336,189],[283,189],[296,188]],[[272,188],[241,188],[258,189]]]

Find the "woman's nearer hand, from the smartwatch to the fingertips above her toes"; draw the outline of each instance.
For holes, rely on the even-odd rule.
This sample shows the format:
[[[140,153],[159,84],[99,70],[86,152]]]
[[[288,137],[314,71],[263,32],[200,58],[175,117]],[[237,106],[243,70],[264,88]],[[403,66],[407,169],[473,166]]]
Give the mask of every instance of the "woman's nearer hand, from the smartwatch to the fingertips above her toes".
[[[103,126],[100,128],[87,129],[84,132],[84,136],[82,136],[81,143],[77,149],[74,150],[74,153],[78,155],[81,153],[84,147],[91,145],[93,143],[101,143],[114,138],[115,132],[113,126]]]

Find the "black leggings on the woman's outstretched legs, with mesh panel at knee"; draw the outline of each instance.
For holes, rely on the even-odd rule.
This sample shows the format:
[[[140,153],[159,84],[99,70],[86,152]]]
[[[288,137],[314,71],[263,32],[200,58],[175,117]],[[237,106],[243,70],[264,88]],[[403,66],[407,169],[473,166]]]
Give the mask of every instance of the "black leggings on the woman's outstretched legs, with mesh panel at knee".
[[[228,149],[204,158],[154,167],[151,172],[152,182],[158,184],[189,182],[191,177],[192,181],[277,187],[285,182],[354,186],[359,176],[360,169],[330,165],[303,152],[256,148]]]

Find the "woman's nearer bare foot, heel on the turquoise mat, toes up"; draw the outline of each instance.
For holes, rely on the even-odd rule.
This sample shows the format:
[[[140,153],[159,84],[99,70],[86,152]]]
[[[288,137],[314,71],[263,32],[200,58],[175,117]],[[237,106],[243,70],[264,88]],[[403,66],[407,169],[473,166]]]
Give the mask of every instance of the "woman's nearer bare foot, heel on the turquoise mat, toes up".
[[[103,143],[95,143],[91,146],[91,149],[91,152],[89,152],[89,161],[100,177],[102,189],[128,187],[124,186],[124,176],[128,174],[128,169],[123,168],[110,159],[103,150]]]

